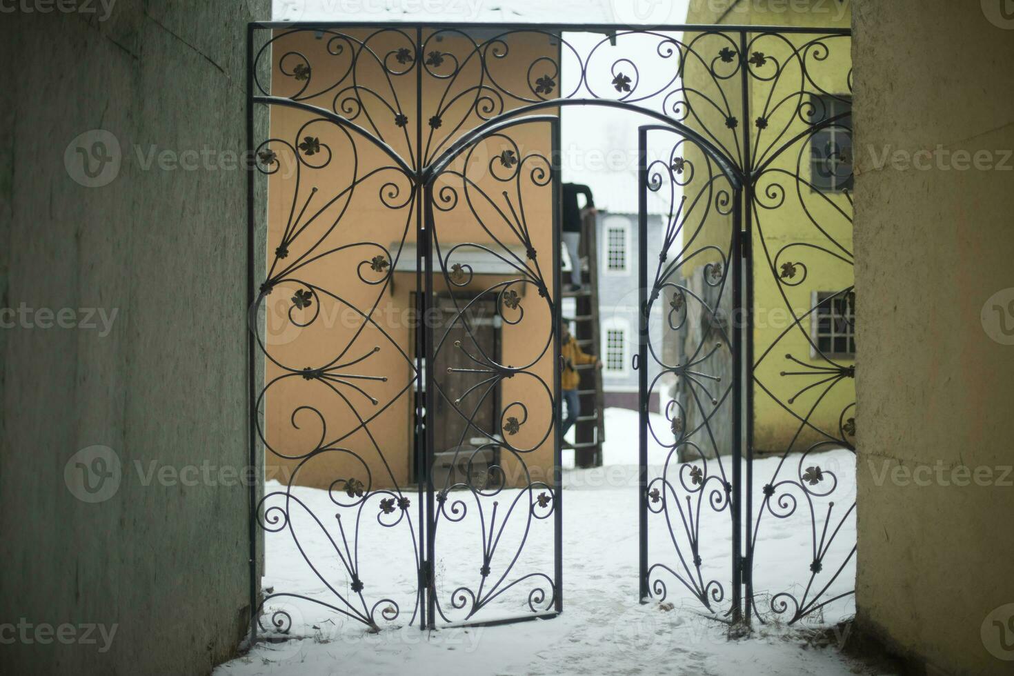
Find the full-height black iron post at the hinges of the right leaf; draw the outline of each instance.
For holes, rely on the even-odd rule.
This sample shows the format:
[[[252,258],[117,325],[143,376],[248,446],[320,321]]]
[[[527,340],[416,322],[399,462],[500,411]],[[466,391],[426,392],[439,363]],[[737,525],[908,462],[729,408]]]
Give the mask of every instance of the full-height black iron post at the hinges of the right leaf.
[[[737,279],[735,280],[735,291],[737,294],[736,300],[736,312],[735,316],[739,320],[740,326],[734,331],[739,345],[736,349],[736,355],[738,362],[736,364],[736,378],[737,387],[736,395],[738,399],[738,410],[736,411],[736,447],[738,449],[738,457],[736,459],[735,468],[742,471],[743,464],[743,445],[746,443],[745,435],[743,434],[743,422],[746,421],[746,425],[750,426],[753,419],[753,407],[752,407],[752,397],[750,397],[749,392],[752,390],[752,353],[750,352],[750,347],[753,344],[753,334],[750,330],[750,313],[752,310],[752,299],[749,300],[749,304],[743,307],[743,290],[744,282],[743,278],[748,279],[750,273],[746,272],[749,270],[749,259],[750,259],[750,241],[749,241],[749,214],[750,214],[750,201],[752,199],[752,181],[753,181],[753,171],[750,166],[752,160],[750,159],[750,87],[749,87],[749,75],[748,66],[746,62],[746,31],[740,31],[739,33],[739,58],[740,58],[740,82],[741,82],[741,95],[742,95],[742,111],[743,111],[743,176],[744,185],[739,195],[739,199],[736,200],[736,240],[738,243],[738,251],[736,254],[736,273]],[[743,210],[746,212],[746,227],[743,227]],[[745,274],[744,274],[745,273]],[[744,359],[744,354],[746,359]],[[744,405],[745,404],[745,405]],[[739,566],[739,584],[736,585],[736,593],[742,594],[742,584],[746,584],[746,595],[742,600],[742,605],[744,606],[743,618],[746,623],[749,623],[750,619],[750,579],[752,578],[752,556],[750,555],[750,523],[751,517],[750,512],[752,510],[750,495],[753,492],[753,461],[751,454],[748,450],[746,452],[746,480],[745,484],[742,481],[742,476],[736,480],[736,514],[739,517],[740,523],[742,519],[746,519],[745,528],[745,538],[746,538],[746,554],[743,555],[742,543],[738,542],[740,549],[736,554],[736,564]],[[740,533],[740,537],[743,536],[741,526],[737,526],[737,531]]]

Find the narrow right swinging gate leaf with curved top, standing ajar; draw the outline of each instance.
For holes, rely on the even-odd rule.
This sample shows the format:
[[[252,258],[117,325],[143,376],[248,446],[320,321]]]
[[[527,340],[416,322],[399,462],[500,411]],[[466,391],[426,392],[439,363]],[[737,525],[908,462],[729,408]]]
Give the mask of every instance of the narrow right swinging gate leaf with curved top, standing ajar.
[[[642,191],[666,209],[662,241],[640,240],[647,262],[641,272],[647,356],[639,365],[641,402],[646,407],[653,394],[668,399],[665,426],[645,417],[642,432],[647,492],[642,593],[661,602],[669,597],[668,585],[676,584],[705,609],[726,617],[735,602],[727,577],[732,551],[710,545],[728,538],[733,505],[727,423],[737,379],[728,368],[733,336],[720,315],[731,308],[731,289],[738,283],[729,261],[730,216],[739,186],[707,150],[670,129],[651,128],[642,143]],[[666,396],[673,390],[681,395]]]

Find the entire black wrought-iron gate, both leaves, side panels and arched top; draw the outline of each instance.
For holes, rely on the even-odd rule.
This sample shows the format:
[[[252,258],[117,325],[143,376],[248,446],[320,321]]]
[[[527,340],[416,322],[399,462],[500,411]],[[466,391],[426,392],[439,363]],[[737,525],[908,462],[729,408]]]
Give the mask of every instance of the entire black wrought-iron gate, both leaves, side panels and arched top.
[[[638,149],[642,205],[669,205],[663,236],[638,238],[642,599],[789,622],[847,602],[848,31],[575,28],[251,26],[261,629],[563,609],[570,105],[658,122]],[[768,565],[763,525],[803,546]],[[260,595],[259,530],[301,588]],[[472,544],[448,557],[447,538]]]

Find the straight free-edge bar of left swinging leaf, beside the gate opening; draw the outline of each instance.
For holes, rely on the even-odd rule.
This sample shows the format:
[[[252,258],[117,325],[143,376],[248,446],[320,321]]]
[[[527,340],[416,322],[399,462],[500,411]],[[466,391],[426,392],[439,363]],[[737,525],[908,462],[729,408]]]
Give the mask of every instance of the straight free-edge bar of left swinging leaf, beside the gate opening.
[[[561,112],[560,108],[557,108],[557,115]],[[563,516],[563,430],[560,427],[560,422],[563,420],[563,402],[560,400],[561,395],[561,373],[560,373],[560,331],[562,328],[562,303],[563,294],[561,293],[563,287],[563,276],[560,272],[560,227],[561,227],[561,210],[562,204],[560,200],[560,179],[561,179],[561,154],[560,154],[560,118],[558,117],[552,124],[552,136],[553,136],[553,148],[550,157],[552,161],[550,162],[550,170],[553,172],[553,400],[556,405],[553,415],[554,427],[556,429],[553,435],[554,449],[553,449],[553,495],[556,496],[557,504],[555,506],[556,512],[554,513],[553,528],[555,530],[553,534],[553,552],[555,556],[554,560],[554,575],[556,577],[555,583],[555,605],[557,612],[562,612],[564,609],[564,552],[563,552],[563,528],[564,528],[564,516]]]

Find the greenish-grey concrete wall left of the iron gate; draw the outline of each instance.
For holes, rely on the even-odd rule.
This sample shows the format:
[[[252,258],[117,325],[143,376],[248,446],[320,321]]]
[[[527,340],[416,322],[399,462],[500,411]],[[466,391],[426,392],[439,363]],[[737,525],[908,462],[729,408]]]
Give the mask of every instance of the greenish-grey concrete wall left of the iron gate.
[[[245,175],[222,153],[245,144],[244,23],[269,3],[46,6],[0,18],[0,306],[116,315],[108,330],[3,317],[0,671],[208,673],[249,610],[246,489],[230,474],[246,462]],[[95,129],[122,164],[89,187],[74,175],[106,174],[88,179],[75,147],[98,137],[70,148],[71,170],[64,154]],[[146,170],[152,147],[211,153]],[[90,475],[89,494],[67,465],[94,445],[121,472]],[[46,628],[64,624],[70,643]]]

